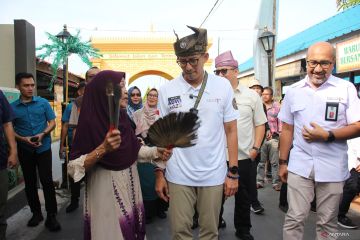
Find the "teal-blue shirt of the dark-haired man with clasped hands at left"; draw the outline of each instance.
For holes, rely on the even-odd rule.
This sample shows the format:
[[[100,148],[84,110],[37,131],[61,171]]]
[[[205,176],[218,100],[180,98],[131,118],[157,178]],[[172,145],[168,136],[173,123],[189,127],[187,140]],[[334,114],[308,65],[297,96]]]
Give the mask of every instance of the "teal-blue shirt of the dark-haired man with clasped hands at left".
[[[13,120],[15,132],[23,137],[34,136],[42,133],[48,121],[55,119],[54,111],[51,109],[49,102],[42,97],[33,97],[31,102],[23,103],[20,98],[11,103],[15,118]],[[30,145],[18,141],[18,145],[30,151],[41,153],[51,147],[51,137],[47,134],[42,139],[40,147],[31,147]]]

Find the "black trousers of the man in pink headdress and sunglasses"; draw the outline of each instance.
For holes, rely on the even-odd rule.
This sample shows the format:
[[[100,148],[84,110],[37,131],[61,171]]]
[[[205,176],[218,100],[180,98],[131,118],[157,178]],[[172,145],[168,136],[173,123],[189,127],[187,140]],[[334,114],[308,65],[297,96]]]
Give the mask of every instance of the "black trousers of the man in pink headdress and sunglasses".
[[[238,232],[249,232],[251,228],[250,220],[250,192],[251,192],[251,169],[254,162],[251,159],[238,161],[239,166],[239,188],[235,194],[234,226]],[[220,210],[220,219],[224,213],[225,197]]]

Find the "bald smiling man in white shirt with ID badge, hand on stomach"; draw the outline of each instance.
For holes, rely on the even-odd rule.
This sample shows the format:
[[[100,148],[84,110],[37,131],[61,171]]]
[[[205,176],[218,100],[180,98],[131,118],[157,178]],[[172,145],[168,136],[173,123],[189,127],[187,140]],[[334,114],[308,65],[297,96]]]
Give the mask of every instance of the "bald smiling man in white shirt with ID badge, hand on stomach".
[[[288,183],[289,201],[284,240],[303,239],[314,189],[317,239],[336,238],[339,202],[349,177],[346,140],[360,136],[360,100],[352,83],[331,75],[332,45],[315,43],[306,60],[307,76],[289,88],[278,116],[283,122],[279,176]]]

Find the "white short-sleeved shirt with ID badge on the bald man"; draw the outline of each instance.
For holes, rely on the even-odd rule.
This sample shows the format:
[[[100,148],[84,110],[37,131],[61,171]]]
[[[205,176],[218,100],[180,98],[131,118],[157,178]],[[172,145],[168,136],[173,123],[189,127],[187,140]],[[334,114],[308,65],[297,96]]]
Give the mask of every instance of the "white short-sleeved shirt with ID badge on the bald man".
[[[332,109],[327,104],[338,105],[333,121],[329,119]],[[349,177],[346,140],[308,143],[302,137],[302,128],[310,122],[329,131],[360,121],[360,100],[350,82],[330,76],[319,88],[312,89],[308,76],[291,85],[282,102],[279,119],[294,126],[293,148],[290,152],[288,170],[309,178],[314,169],[317,182],[341,182]],[[327,113],[327,114],[326,114]],[[326,116],[327,115],[327,116]]]

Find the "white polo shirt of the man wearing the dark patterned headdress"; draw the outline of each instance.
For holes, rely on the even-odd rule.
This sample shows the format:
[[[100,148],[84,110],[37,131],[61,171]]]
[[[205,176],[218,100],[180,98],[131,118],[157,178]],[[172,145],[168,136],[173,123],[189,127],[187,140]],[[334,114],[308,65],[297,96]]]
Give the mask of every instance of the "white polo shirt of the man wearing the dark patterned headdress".
[[[193,88],[182,75],[159,90],[160,115],[186,112],[194,107],[201,85]],[[191,96],[193,96],[191,98]],[[236,120],[233,90],[225,78],[208,75],[206,88],[198,107],[200,128],[197,144],[175,148],[167,162],[168,181],[187,186],[216,186],[223,184],[227,173],[224,123]]]

